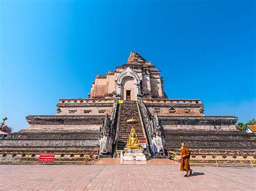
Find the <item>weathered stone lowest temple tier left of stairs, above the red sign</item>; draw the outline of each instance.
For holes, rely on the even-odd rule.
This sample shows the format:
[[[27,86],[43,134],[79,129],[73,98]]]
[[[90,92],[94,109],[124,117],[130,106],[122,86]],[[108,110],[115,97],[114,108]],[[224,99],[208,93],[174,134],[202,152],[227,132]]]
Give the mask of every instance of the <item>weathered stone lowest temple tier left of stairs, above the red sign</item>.
[[[99,150],[98,130],[26,129],[0,140],[0,152],[86,152]]]

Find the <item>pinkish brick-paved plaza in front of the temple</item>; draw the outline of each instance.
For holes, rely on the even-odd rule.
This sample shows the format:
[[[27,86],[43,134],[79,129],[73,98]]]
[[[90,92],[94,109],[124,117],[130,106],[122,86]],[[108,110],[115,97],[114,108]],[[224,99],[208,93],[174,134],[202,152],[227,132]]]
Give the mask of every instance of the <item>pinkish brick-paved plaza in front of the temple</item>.
[[[178,165],[0,165],[1,190],[253,190],[252,167]]]

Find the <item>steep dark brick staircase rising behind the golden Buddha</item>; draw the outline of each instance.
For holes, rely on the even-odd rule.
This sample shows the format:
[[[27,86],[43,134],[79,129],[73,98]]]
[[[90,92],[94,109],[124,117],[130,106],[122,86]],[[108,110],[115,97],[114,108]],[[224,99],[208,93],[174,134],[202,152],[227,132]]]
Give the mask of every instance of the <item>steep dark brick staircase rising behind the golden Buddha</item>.
[[[133,118],[138,120],[139,123],[134,125],[138,138],[144,138],[144,134],[136,101],[124,101],[124,103],[120,104],[119,109],[120,116],[117,135],[117,150],[124,150],[132,128],[131,124],[126,123],[128,119]]]

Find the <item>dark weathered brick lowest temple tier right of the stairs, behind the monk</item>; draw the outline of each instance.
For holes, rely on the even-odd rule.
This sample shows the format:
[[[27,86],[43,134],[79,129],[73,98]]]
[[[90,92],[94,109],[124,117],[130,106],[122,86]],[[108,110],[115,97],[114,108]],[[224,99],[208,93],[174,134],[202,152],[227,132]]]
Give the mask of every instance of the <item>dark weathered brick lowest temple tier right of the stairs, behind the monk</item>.
[[[256,151],[255,137],[238,130],[165,129],[166,150],[180,148],[181,141],[194,154],[255,154]]]

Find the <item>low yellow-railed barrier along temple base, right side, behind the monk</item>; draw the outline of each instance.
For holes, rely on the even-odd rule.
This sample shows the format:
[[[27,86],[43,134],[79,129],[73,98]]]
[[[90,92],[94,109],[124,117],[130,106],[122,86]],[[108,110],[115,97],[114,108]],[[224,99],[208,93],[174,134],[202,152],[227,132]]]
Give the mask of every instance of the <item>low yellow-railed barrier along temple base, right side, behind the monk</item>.
[[[180,161],[181,155],[169,151],[170,159]],[[234,154],[191,154],[190,165],[227,165],[227,166],[251,166],[256,165],[256,155],[234,155]]]

